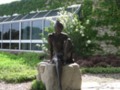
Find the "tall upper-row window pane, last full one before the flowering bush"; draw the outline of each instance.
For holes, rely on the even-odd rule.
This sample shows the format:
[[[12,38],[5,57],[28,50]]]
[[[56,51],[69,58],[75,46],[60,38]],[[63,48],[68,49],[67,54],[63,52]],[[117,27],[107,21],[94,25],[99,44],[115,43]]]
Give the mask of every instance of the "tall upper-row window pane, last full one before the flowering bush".
[[[42,21],[36,20],[32,22],[32,39],[41,39]]]

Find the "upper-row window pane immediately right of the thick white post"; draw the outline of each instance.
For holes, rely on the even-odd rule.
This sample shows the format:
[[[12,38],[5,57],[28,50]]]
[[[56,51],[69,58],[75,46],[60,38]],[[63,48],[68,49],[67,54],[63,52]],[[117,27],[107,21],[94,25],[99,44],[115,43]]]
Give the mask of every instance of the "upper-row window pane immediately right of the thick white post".
[[[28,40],[30,39],[30,22],[22,22],[21,24],[21,39]]]

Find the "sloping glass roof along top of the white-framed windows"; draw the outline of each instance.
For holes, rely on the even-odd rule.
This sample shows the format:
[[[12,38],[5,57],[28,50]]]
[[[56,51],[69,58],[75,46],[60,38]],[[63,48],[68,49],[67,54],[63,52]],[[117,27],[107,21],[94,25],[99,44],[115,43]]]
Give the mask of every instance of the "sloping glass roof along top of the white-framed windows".
[[[66,8],[66,11],[77,13],[80,10],[81,5],[72,5]],[[9,21],[18,21],[18,20],[25,20],[25,19],[34,19],[34,18],[43,18],[43,17],[53,17],[58,16],[58,12],[61,9],[54,9],[50,11],[36,11],[36,12],[30,12],[29,14],[23,14],[23,15],[13,15],[13,16],[3,16],[0,17],[0,23],[2,22],[9,22]]]

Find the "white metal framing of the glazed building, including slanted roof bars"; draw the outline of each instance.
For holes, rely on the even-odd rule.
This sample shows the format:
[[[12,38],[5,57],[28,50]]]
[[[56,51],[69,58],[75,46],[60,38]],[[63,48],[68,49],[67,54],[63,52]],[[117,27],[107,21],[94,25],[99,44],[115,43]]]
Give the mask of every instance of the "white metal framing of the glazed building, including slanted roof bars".
[[[78,8],[77,8],[77,10],[74,13],[76,13],[80,9],[81,5],[79,5],[77,7]],[[46,19],[49,19],[49,18],[58,18],[58,17],[62,16],[62,15],[61,16],[59,16],[59,15],[56,15],[56,16],[47,16],[50,12],[52,12],[52,10],[50,10],[48,13],[46,13],[43,17],[35,18],[36,15],[38,15],[39,13],[42,13],[42,12],[39,12],[39,13],[36,13],[32,18],[29,18],[29,19],[24,19],[25,17],[27,17],[29,15],[29,14],[26,14],[25,16],[23,16],[19,20],[14,20],[15,18],[18,17],[18,16],[16,16],[11,21],[4,22],[5,20],[8,19],[7,18],[4,21],[0,22],[1,30],[3,30],[3,24],[9,23],[10,25],[12,25],[12,23],[17,23],[17,22],[19,23],[19,40],[11,40],[11,39],[10,40],[3,40],[3,37],[2,37],[3,33],[2,33],[1,40],[0,40],[0,43],[1,43],[1,49],[0,50],[3,50],[3,51],[20,51],[20,52],[43,52],[43,51],[31,50],[31,46],[30,46],[30,50],[21,50],[21,43],[30,43],[30,45],[32,43],[41,43],[41,44],[43,43],[42,39],[41,40],[32,40],[32,37],[31,37],[31,35],[32,35],[32,28],[30,28],[30,40],[21,40],[21,23],[29,21],[30,22],[30,27],[32,27],[32,22],[33,21],[42,20],[42,33],[44,33],[45,20]],[[0,19],[2,19],[2,18],[0,18]],[[10,49],[10,48],[9,49],[3,49],[2,43],[19,43],[19,49],[17,49],[17,50],[13,50],[13,49]]]

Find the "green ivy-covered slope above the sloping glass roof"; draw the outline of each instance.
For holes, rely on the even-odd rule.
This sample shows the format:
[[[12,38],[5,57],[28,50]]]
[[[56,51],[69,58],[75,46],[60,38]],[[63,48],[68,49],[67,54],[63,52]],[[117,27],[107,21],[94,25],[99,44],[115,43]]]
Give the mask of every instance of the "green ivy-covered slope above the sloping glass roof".
[[[80,0],[81,1],[81,0]],[[79,1],[79,2],[80,2]],[[49,10],[61,6],[79,3],[77,0],[21,0],[10,4],[0,5],[0,16],[12,15],[14,13],[25,14],[36,10]]]

